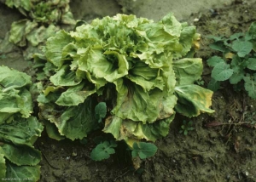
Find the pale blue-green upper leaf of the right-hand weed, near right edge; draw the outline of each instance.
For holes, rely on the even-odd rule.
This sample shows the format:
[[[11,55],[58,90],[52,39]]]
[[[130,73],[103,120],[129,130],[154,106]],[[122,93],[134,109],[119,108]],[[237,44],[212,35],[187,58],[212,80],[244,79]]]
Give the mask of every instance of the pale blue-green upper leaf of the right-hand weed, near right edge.
[[[245,57],[253,49],[253,43],[236,40],[232,43],[232,48],[237,52],[239,57]]]

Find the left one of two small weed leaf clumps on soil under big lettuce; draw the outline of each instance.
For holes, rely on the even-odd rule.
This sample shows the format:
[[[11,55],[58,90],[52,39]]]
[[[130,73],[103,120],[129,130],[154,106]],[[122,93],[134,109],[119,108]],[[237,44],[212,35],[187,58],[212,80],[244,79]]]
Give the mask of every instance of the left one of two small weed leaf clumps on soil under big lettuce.
[[[98,145],[96,145],[96,148],[93,149],[90,153],[90,158],[92,158],[95,161],[102,161],[103,159],[108,159],[110,157],[110,154],[114,154],[114,147],[116,147],[117,144],[111,140],[104,141]]]

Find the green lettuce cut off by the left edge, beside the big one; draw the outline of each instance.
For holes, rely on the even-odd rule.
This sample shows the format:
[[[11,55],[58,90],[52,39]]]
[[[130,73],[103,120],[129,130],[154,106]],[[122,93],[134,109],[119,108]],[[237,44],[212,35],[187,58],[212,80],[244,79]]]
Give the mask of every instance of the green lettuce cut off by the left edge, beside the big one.
[[[0,66],[0,179],[38,181],[41,153],[33,147],[43,126],[32,117],[31,77]]]

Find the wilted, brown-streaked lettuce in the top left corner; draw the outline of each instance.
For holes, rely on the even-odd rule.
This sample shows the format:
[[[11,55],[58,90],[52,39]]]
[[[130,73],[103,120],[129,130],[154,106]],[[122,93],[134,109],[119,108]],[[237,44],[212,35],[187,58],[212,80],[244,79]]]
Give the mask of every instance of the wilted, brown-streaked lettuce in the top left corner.
[[[57,24],[74,25],[69,0],[6,0],[9,8],[15,8],[26,19],[15,21],[10,30],[9,41],[20,47],[38,46],[55,33]]]

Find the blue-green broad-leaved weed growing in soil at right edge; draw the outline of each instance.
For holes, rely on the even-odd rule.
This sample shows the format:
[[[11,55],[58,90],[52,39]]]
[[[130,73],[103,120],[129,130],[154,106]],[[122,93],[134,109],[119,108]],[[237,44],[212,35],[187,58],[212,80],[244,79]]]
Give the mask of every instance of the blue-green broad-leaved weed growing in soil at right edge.
[[[229,80],[235,88],[242,83],[247,94],[256,99],[256,22],[246,33],[209,38],[214,41],[209,47],[223,55],[212,56],[207,60],[207,64],[213,67],[208,88],[216,91],[220,82]]]

